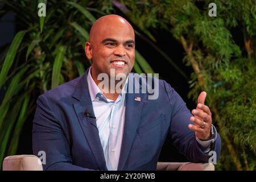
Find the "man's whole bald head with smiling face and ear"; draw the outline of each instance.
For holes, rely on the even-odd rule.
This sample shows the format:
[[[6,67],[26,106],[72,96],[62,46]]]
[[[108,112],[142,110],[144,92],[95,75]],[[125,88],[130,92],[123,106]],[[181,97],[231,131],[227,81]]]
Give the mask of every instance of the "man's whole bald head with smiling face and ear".
[[[92,60],[91,74],[96,83],[100,73],[111,76],[111,69],[114,69],[115,75],[123,73],[127,76],[135,60],[133,27],[121,16],[102,16],[90,29],[85,53]]]

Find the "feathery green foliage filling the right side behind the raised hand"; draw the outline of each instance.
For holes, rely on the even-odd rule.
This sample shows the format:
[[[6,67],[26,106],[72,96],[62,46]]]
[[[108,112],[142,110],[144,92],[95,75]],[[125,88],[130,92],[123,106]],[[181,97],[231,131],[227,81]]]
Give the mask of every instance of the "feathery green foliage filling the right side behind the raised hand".
[[[194,71],[189,97],[196,101],[202,90],[208,93],[207,105],[222,138],[217,169],[255,170],[256,2],[121,2],[123,13],[139,28],[163,28],[182,44],[183,61]],[[217,17],[208,16],[212,2]]]

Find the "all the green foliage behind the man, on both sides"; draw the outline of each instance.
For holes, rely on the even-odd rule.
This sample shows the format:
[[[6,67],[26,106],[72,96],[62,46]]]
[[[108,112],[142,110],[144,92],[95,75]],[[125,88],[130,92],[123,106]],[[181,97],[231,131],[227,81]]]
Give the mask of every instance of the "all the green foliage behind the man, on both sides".
[[[217,17],[208,16],[212,2],[217,5]],[[0,89],[6,93],[0,105],[0,162],[3,156],[15,154],[20,128],[34,113],[39,94],[82,75],[89,67],[84,43],[93,21],[118,10],[147,36],[144,40],[170,67],[185,77],[156,46],[157,39],[150,30],[167,30],[183,46],[182,61],[194,71],[189,97],[196,101],[202,90],[208,93],[206,104],[222,138],[217,169],[256,169],[255,1],[51,0],[47,1],[45,19],[37,15],[38,1],[1,3],[0,17],[13,11],[23,31],[16,34],[0,64]],[[134,71],[152,72],[139,53]]]

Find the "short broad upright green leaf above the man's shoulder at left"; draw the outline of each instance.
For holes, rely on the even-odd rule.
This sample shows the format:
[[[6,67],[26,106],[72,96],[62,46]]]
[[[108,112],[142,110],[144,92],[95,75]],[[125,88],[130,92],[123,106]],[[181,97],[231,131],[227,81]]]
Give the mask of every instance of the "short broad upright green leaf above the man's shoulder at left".
[[[65,49],[66,48],[64,46],[59,46],[56,48],[57,56],[55,57],[52,68],[52,89],[60,83],[60,71],[64,59]]]

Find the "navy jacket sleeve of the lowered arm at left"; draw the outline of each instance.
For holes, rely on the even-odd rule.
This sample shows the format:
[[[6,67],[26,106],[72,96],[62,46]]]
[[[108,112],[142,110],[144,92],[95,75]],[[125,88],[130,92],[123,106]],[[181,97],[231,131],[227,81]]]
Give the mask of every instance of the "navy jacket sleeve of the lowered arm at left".
[[[64,135],[60,123],[56,121],[55,114],[47,98],[42,95],[37,100],[33,128],[33,153],[38,156],[39,151],[46,154],[44,170],[90,170],[72,164],[71,152],[67,137]]]

